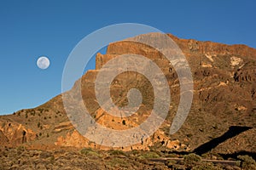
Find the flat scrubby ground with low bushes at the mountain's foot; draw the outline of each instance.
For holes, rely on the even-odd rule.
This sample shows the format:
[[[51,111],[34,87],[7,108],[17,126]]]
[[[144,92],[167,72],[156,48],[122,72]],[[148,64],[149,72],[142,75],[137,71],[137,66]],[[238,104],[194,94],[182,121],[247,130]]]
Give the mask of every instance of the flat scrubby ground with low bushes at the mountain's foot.
[[[2,148],[0,158],[0,169],[256,169],[250,156],[224,161],[218,154],[201,157],[143,150],[27,150],[20,146]]]

